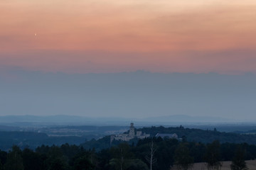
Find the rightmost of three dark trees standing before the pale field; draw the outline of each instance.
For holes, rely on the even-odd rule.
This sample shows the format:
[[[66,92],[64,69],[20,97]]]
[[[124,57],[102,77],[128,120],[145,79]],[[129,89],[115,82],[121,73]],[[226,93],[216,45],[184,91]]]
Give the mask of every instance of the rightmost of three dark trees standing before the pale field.
[[[243,149],[241,146],[238,146],[235,150],[235,157],[232,160],[230,168],[232,170],[247,170],[245,162],[245,149]]]

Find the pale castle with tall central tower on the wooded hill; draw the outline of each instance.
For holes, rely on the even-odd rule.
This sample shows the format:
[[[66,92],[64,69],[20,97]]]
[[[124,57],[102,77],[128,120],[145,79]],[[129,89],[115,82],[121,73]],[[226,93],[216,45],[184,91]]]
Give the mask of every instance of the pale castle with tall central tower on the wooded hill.
[[[142,131],[137,131],[136,134],[135,134],[134,123],[131,123],[128,134],[111,135],[110,143],[113,140],[129,141],[129,140],[134,139],[134,137],[137,137],[138,139],[144,139],[144,138],[149,137],[149,136],[150,135],[146,134],[146,133],[142,134]]]

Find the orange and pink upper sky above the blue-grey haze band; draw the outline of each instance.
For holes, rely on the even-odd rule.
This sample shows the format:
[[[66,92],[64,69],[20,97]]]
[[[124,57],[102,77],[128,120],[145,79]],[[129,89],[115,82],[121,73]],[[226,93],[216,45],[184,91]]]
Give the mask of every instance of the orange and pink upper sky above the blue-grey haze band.
[[[256,72],[255,46],[254,0],[0,2],[0,66]]]

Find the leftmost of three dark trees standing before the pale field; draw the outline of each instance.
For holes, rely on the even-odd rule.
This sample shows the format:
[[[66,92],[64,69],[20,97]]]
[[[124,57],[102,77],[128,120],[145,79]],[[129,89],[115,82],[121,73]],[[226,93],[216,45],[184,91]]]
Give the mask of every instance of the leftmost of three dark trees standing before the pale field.
[[[178,145],[174,159],[177,169],[188,170],[193,168],[193,157],[190,156],[189,149],[184,143]]]

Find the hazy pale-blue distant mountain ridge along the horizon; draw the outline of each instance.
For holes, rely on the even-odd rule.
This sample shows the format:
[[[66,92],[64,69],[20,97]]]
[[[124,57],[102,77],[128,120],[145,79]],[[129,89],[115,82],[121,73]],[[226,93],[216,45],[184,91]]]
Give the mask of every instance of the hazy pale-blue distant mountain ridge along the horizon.
[[[124,125],[124,123],[154,123],[156,124],[174,124],[174,123],[225,123],[234,122],[235,120],[208,116],[189,116],[189,115],[168,115],[149,118],[89,118],[78,115],[2,115],[0,123],[57,123],[58,125]]]

